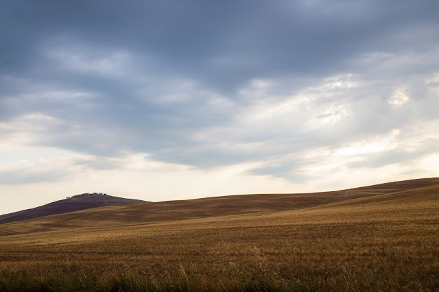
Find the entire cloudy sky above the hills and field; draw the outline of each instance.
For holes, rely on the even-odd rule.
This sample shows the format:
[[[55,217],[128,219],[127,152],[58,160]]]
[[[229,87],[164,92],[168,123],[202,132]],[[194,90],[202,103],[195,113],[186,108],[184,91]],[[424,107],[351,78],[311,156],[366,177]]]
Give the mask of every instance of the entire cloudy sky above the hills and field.
[[[0,214],[439,176],[437,0],[0,7]]]

